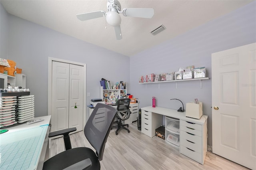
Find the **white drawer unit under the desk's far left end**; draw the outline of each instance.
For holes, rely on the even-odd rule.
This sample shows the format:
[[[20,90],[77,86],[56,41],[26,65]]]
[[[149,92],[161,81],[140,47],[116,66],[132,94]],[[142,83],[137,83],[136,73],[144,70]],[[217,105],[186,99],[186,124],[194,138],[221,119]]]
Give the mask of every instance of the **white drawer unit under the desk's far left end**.
[[[149,111],[141,111],[141,132],[153,137],[156,134],[156,128],[162,125],[162,121],[160,121],[162,115],[158,115],[156,113],[151,113]],[[152,121],[153,120],[153,121]]]

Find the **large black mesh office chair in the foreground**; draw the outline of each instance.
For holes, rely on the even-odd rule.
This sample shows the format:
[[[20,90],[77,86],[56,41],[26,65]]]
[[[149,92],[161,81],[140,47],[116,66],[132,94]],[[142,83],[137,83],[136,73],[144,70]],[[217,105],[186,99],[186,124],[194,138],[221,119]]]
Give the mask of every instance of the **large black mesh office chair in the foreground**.
[[[99,170],[105,144],[116,117],[116,113],[117,110],[114,107],[102,103],[98,103],[92,111],[92,114],[84,127],[84,134],[92,147],[96,150],[96,153],[92,149],[86,147],[71,148],[70,140],[68,140],[68,133],[76,130],[76,128],[64,129],[50,133],[49,137],[64,135],[65,138],[66,136],[66,140],[64,140],[66,151],[46,160],[46,162],[44,162],[43,169]],[[66,141],[69,142],[66,144]]]

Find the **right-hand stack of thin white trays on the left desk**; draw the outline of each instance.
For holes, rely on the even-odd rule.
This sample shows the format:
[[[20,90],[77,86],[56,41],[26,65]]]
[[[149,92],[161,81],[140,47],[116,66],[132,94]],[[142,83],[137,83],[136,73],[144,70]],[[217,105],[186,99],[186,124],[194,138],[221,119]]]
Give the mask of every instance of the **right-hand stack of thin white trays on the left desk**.
[[[34,118],[34,95],[19,96],[17,107],[18,123],[24,123]]]

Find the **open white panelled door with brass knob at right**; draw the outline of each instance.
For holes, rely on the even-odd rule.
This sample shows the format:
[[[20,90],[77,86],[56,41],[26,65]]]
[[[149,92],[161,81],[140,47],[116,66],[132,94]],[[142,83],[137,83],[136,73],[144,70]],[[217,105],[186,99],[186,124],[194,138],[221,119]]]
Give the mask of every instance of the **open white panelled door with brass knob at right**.
[[[256,43],[212,54],[212,151],[256,169]]]

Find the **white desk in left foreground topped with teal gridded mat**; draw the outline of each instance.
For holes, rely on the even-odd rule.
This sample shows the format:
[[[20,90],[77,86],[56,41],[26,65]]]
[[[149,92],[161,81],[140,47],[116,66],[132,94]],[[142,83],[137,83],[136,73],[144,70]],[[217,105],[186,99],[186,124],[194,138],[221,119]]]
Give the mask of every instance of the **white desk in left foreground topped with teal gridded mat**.
[[[4,128],[0,134],[0,169],[42,169],[50,131],[51,116],[36,117],[44,121]],[[32,148],[34,151],[32,152]]]

